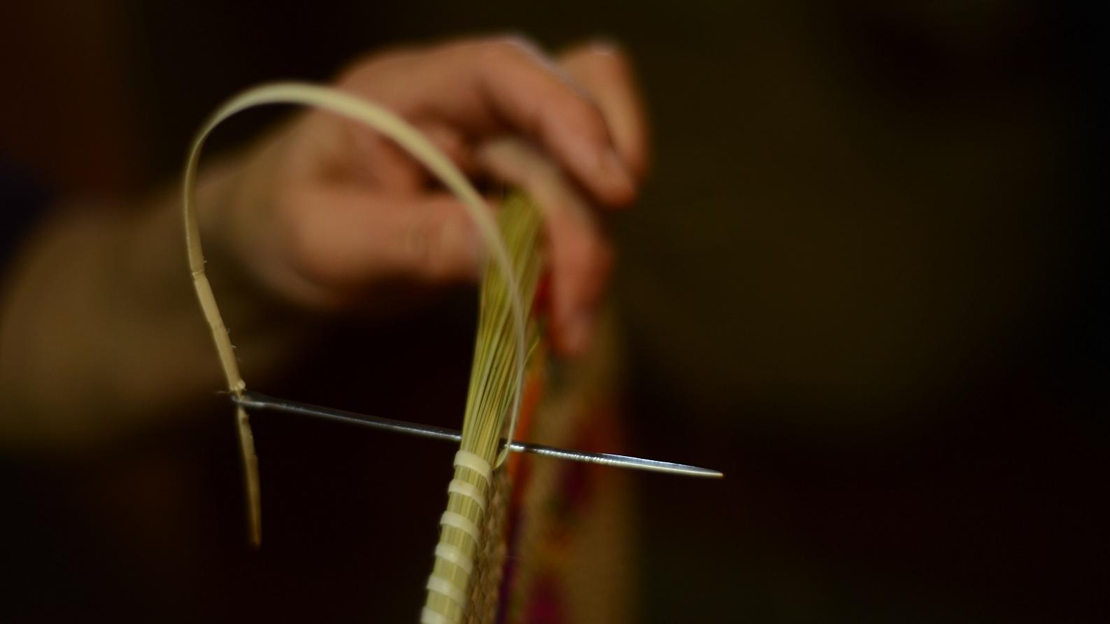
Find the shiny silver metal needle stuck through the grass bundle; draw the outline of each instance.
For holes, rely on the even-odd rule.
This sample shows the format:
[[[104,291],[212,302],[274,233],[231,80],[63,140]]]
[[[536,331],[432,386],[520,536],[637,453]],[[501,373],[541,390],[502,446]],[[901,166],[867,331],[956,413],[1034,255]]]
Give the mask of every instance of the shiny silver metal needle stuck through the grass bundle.
[[[242,399],[233,396],[232,401],[239,403],[244,407],[249,407],[252,410],[269,410],[271,412],[285,412],[289,414],[300,414],[304,416],[313,416],[327,421],[357,424],[362,426],[369,426],[372,429],[391,431],[394,433],[404,433],[406,435],[416,435],[420,437],[431,437],[434,440],[450,440],[453,442],[461,442],[463,439],[463,434],[453,429],[410,423],[405,421],[395,421],[392,419],[383,419],[379,416],[369,416],[366,414],[345,412],[343,410],[335,410],[332,407],[321,407],[317,405],[310,405],[306,403],[297,403],[296,401],[289,401],[286,399],[274,399],[272,396],[266,396],[265,394],[260,394],[258,392],[245,392]],[[547,457],[558,457],[561,460],[574,460],[576,462],[586,462],[591,464],[602,464],[607,466],[646,470],[653,472],[665,472],[668,474],[702,476],[709,479],[720,479],[725,476],[724,473],[720,473],[715,470],[690,466],[686,464],[675,464],[670,462],[660,462],[657,460],[645,460],[642,457],[630,457],[628,455],[615,455],[613,453],[588,453],[586,451],[572,451],[568,449],[557,449],[555,446],[546,446],[544,444],[518,442],[516,440],[508,443],[508,449],[509,451],[514,451],[517,453],[535,453],[536,455],[544,455]]]

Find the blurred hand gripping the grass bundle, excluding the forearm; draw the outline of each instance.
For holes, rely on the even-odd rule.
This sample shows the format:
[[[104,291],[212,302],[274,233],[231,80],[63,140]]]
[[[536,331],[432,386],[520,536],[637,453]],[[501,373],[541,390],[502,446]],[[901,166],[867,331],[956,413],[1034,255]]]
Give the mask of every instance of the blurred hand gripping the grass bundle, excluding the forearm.
[[[517,39],[481,39],[372,57],[337,82],[405,118],[472,178],[541,204],[555,344],[585,349],[612,263],[594,207],[630,203],[647,162],[622,54],[588,46],[556,61]],[[284,298],[342,306],[478,274],[481,240],[463,207],[380,134],[307,112],[244,162],[202,224]]]

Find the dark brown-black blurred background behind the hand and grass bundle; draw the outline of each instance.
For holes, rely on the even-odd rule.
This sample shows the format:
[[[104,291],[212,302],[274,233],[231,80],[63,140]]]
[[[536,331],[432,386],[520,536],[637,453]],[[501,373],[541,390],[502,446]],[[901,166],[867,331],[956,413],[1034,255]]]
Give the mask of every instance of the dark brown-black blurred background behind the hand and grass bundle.
[[[634,480],[639,620],[1098,621],[1106,17],[1016,0],[6,2],[0,154],[52,197],[138,195],[175,183],[201,120],[248,85],[324,81],[400,42],[610,38],[654,138],[639,204],[609,222],[628,451],[727,474]],[[457,421],[472,309],[460,293],[336,323],[260,390]],[[268,417],[252,553],[229,410],[201,397],[165,422],[80,457],[0,460],[2,618],[412,620],[431,562],[413,553],[443,502],[422,466],[450,447]]]

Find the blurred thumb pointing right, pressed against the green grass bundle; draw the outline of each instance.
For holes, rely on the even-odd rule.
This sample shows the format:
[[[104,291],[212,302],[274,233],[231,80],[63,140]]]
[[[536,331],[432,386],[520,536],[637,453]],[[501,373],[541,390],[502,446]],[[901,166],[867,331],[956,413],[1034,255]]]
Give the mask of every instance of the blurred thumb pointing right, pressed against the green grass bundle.
[[[373,284],[477,278],[481,241],[450,195],[315,187],[289,202],[279,225],[287,265],[321,292],[344,298]]]

